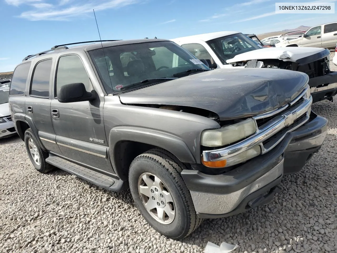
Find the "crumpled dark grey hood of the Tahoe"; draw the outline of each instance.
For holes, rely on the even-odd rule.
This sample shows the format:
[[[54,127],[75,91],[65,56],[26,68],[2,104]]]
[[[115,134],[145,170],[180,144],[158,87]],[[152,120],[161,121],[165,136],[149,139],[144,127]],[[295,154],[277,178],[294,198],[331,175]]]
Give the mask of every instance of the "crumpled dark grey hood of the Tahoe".
[[[307,84],[306,74],[272,68],[215,69],[120,94],[123,104],[201,108],[221,120],[271,111],[293,100]]]

